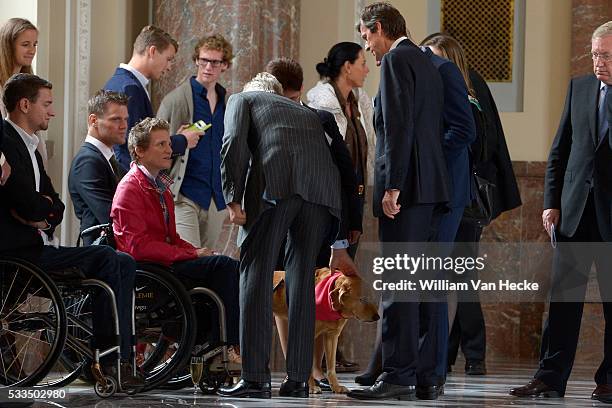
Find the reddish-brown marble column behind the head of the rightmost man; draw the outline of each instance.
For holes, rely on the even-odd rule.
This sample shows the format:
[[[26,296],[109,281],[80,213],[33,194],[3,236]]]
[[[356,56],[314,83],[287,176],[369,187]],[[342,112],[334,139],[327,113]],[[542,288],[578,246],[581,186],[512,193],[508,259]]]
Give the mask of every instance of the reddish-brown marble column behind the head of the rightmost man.
[[[572,1],[572,76],[593,72],[591,34],[611,19],[612,0]]]

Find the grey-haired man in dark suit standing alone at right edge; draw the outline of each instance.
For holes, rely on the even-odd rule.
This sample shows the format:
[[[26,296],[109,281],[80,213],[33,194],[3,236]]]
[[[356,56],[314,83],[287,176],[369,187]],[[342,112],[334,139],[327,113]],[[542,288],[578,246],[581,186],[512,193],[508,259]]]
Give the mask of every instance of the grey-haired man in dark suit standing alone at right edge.
[[[548,157],[542,222],[559,245],[553,255],[548,320],[542,334],[540,368],[517,397],[563,397],[570,376],[591,265],[597,268],[606,328],[604,358],[591,397],[612,403],[612,21],[591,38],[595,75],[570,81],[559,129]],[[588,244],[584,244],[588,243]],[[569,294],[569,297],[568,297]]]

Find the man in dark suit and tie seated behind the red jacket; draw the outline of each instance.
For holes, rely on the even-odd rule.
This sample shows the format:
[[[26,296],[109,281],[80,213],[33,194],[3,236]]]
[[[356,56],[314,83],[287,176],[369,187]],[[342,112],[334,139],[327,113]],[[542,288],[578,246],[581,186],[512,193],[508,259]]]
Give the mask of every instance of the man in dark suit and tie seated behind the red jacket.
[[[74,212],[83,231],[110,222],[110,209],[119,180],[125,175],[117,163],[113,147],[125,143],[128,124],[128,97],[99,91],[88,103],[87,137],[72,160],[68,189]],[[84,236],[90,245],[95,236]]]

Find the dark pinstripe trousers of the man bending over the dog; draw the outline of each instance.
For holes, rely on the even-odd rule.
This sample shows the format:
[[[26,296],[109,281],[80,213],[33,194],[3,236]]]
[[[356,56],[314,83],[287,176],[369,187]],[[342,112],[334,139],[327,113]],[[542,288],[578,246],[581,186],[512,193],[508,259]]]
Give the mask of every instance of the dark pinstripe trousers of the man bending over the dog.
[[[248,209],[247,209],[248,217]],[[300,196],[277,200],[264,211],[240,251],[240,350],[242,378],[270,381],[272,277],[281,244],[285,251],[289,305],[287,374],[307,381],[314,344],[314,266],[332,224],[328,208]]]

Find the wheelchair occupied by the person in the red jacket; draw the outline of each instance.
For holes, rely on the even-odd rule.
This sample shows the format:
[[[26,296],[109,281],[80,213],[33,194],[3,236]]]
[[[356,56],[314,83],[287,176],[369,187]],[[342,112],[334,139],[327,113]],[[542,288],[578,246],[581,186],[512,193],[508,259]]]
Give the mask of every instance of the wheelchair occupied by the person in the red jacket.
[[[115,247],[110,224],[88,228],[81,237],[91,233],[98,237],[94,244]],[[207,338],[209,328],[198,327],[196,310],[207,314],[216,310],[219,338]],[[240,367],[228,361],[225,321],[225,306],[214,291],[204,287],[188,291],[170,267],[137,263],[136,365],[145,376],[143,391],[191,386],[189,364],[194,356],[204,361],[199,384],[203,393],[214,393],[231,381]]]

